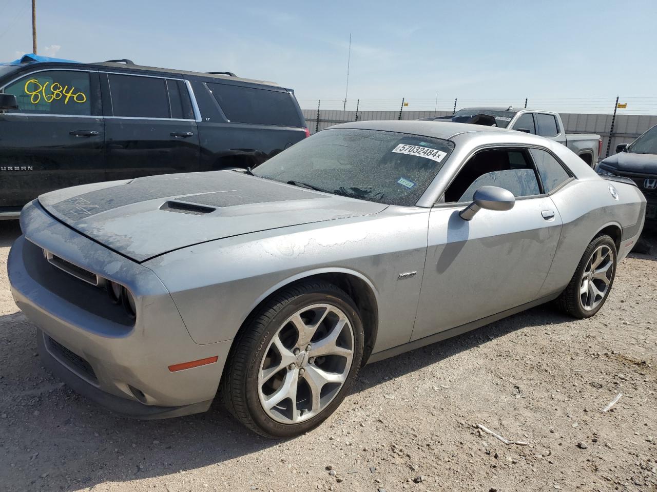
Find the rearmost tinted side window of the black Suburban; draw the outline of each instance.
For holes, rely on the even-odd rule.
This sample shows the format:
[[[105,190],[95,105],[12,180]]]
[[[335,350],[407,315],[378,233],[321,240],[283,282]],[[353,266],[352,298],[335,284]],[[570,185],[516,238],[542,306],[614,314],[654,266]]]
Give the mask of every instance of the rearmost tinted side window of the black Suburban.
[[[287,91],[217,83],[208,83],[208,89],[227,119],[234,123],[301,126],[294,98]]]

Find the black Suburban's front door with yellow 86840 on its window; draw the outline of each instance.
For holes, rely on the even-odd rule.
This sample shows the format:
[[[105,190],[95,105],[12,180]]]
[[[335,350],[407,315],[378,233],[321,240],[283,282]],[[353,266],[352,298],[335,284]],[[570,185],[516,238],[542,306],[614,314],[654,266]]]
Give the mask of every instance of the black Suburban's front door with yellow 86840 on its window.
[[[0,207],[104,180],[98,72],[37,70],[7,83],[18,110],[0,113]]]

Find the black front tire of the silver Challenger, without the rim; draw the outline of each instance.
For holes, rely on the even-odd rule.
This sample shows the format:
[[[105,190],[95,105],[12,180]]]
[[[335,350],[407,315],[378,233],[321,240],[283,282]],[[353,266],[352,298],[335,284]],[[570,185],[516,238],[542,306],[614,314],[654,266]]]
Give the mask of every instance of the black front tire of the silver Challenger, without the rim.
[[[348,317],[353,329],[351,368],[338,394],[318,415],[296,424],[282,424],[269,417],[260,403],[261,359],[281,324],[298,310],[316,303],[335,306]],[[361,366],[364,343],[363,322],[357,307],[342,289],[321,280],[296,283],[265,300],[240,329],[221,378],[221,400],[237,420],[261,436],[272,439],[298,436],[319,426],[349,394]]]

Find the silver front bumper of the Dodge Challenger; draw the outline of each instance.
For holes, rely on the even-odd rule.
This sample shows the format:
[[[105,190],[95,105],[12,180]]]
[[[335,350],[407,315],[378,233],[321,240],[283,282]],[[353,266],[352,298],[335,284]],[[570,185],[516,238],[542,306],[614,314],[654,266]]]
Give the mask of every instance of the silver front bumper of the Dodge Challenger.
[[[38,204],[26,207],[25,236],[7,260],[12,295],[39,328],[43,362],[76,391],[108,409],[154,419],[196,413],[212,402],[231,340],[198,345],[173,300],[145,266],[60,224]],[[41,248],[123,283],[137,319],[126,323],[99,288],[49,264]],[[171,372],[169,366],[218,356],[215,363]]]

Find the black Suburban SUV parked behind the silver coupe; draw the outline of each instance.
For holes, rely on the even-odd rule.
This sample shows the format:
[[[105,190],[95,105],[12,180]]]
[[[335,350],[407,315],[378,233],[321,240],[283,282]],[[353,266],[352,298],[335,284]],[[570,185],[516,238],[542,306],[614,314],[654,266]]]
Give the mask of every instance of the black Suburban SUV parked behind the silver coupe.
[[[26,55],[0,64],[0,218],[66,186],[254,167],[306,136],[275,83]]]

